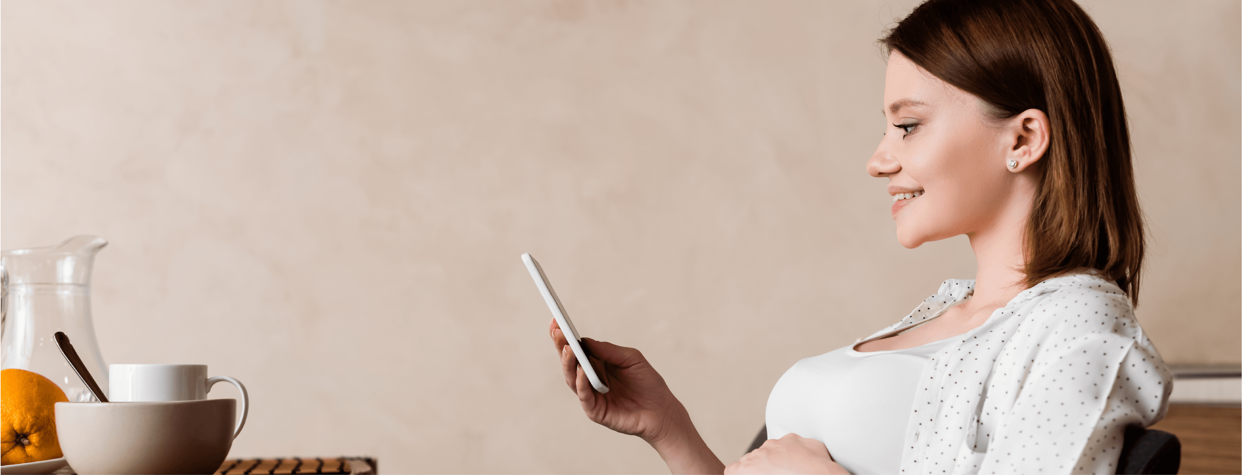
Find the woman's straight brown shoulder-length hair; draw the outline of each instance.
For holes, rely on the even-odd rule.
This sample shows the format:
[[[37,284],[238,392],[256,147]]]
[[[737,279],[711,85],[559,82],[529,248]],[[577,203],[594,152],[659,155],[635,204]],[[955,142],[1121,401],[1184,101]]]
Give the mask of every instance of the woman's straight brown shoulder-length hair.
[[[1098,269],[1138,304],[1144,236],[1130,133],[1090,16],[1072,0],[928,0],[879,43],[979,97],[995,119],[1048,115],[1025,284]]]

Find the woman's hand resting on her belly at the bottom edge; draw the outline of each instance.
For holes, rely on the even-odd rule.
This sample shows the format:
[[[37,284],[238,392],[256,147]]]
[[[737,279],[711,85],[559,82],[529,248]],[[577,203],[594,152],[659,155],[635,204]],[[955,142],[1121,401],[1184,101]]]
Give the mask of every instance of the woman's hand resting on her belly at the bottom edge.
[[[780,439],[768,439],[754,451],[724,468],[733,474],[832,474],[848,475],[843,466],[832,461],[828,448],[822,442],[797,434]]]

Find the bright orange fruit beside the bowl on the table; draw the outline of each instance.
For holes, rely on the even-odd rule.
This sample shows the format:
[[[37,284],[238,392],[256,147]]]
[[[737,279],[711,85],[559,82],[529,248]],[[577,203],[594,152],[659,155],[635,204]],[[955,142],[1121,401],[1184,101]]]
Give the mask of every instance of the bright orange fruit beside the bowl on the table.
[[[39,373],[0,371],[0,465],[63,456],[53,404],[68,401],[65,391]]]

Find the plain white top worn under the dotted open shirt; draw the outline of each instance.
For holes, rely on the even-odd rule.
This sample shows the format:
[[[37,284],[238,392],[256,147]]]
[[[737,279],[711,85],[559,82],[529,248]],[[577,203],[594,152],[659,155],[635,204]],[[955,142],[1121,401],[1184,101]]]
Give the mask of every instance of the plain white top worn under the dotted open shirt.
[[[851,474],[897,474],[914,391],[949,341],[871,352],[851,345],[799,361],[768,397],[768,437],[818,439]]]

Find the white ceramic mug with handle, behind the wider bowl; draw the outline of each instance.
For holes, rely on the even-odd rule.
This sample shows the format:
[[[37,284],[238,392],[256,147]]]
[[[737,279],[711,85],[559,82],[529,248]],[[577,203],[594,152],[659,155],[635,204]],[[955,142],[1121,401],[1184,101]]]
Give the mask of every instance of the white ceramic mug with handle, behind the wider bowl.
[[[241,419],[233,437],[241,434],[250,409],[250,394],[241,381],[227,376],[207,377],[207,365],[109,365],[108,401],[202,401],[217,382],[229,382],[241,391]]]

